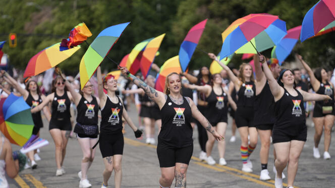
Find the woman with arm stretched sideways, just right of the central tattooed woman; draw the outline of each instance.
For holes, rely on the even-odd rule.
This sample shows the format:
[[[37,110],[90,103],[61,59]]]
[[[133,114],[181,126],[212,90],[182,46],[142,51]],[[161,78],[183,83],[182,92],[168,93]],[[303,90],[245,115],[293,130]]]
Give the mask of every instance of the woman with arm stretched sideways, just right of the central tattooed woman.
[[[221,86],[222,77],[220,74],[214,74],[211,78],[211,85],[196,86],[189,85],[186,86],[190,89],[196,89],[201,93],[205,93],[206,101],[208,102],[208,120],[213,125],[216,132],[225,137],[227,123],[228,123],[228,104],[236,110],[236,103],[232,97],[224,90]],[[208,133],[208,132],[207,132]],[[210,156],[215,138],[211,134],[207,134],[208,141],[206,143],[206,162],[210,165],[215,164],[214,159]],[[226,151],[226,141],[223,140],[217,144],[218,154],[219,154],[219,165],[226,165],[225,151]]]

